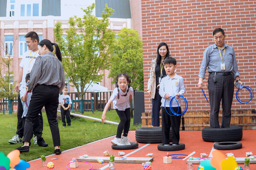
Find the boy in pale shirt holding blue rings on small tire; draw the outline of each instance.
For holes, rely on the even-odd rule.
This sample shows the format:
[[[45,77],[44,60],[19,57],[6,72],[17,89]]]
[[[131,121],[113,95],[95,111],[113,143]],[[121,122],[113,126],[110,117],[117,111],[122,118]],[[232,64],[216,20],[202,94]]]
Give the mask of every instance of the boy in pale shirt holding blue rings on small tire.
[[[169,145],[169,132],[170,127],[172,127],[172,145],[179,144],[180,140],[180,119],[181,116],[170,116],[168,113],[172,114],[170,110],[170,101],[172,96],[175,96],[175,99],[179,103],[179,107],[177,105],[176,100],[174,99],[172,102],[172,109],[175,113],[181,114],[181,99],[180,96],[183,95],[186,91],[184,87],[184,81],[181,76],[175,74],[175,70],[177,68],[176,59],[173,57],[166,57],[163,62],[164,69],[166,71],[166,77],[161,80],[159,94],[162,97],[161,99],[161,108],[162,108],[162,143],[164,145]],[[166,102],[165,102],[166,100]],[[166,105],[166,109],[165,109]],[[166,113],[166,111],[168,113]],[[173,115],[173,114],[172,114]]]

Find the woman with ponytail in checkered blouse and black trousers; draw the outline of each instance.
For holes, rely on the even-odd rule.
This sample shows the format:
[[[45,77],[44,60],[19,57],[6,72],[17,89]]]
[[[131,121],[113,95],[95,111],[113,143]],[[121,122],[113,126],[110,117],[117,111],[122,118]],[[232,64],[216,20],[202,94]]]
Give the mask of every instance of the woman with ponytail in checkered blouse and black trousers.
[[[52,53],[55,46],[55,55]],[[32,93],[26,122],[24,125],[24,145],[18,147],[20,152],[29,152],[29,143],[32,138],[33,123],[39,111],[44,107],[52,133],[54,153],[61,154],[60,133],[57,121],[58,96],[65,85],[64,70],[61,64],[61,52],[56,43],[42,40],[38,43],[39,55],[30,73],[30,81],[27,83]]]

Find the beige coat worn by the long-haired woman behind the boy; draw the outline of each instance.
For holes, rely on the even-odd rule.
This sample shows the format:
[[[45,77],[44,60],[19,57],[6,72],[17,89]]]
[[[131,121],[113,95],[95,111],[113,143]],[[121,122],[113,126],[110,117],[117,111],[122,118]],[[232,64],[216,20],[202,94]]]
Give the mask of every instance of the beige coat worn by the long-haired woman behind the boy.
[[[149,79],[148,79],[148,89],[151,90],[151,98],[154,99],[154,96],[156,94],[156,66],[157,66],[157,59],[153,59],[151,62],[151,69],[149,73]]]

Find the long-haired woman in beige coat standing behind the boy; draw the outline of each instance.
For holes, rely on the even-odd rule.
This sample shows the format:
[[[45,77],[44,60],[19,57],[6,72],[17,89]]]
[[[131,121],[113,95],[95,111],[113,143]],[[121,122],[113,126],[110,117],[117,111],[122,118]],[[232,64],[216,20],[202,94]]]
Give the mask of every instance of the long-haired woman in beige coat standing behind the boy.
[[[161,108],[161,96],[159,86],[161,79],[166,75],[163,68],[163,60],[169,57],[169,48],[165,42],[161,42],[157,47],[157,58],[151,62],[151,70],[148,79],[148,94],[152,98],[152,126],[160,126],[159,112]]]

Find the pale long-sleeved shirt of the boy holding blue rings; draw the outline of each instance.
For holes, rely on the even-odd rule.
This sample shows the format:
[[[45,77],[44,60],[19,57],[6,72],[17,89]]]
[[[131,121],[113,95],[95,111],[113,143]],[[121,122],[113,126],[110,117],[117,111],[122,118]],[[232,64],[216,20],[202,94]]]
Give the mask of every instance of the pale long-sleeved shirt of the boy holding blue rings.
[[[169,96],[175,96],[176,94],[179,93],[180,95],[183,96],[185,91],[186,91],[186,89],[184,86],[184,81],[181,76],[178,76],[177,74],[175,74],[175,76],[173,78],[169,77],[169,75],[167,75],[166,77],[163,77],[163,79],[161,80],[160,88],[159,88],[159,94],[162,97],[161,107],[165,107],[164,106],[164,102],[165,102],[164,96],[166,94],[169,94]],[[172,97],[170,97],[169,99],[166,100],[166,107],[170,107],[171,99],[172,99]],[[181,98],[177,99],[177,102],[179,103],[179,106],[180,106]],[[177,102],[175,99],[173,99],[172,107],[178,107]]]

